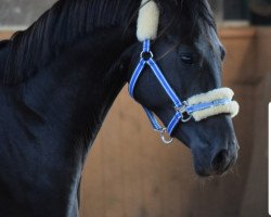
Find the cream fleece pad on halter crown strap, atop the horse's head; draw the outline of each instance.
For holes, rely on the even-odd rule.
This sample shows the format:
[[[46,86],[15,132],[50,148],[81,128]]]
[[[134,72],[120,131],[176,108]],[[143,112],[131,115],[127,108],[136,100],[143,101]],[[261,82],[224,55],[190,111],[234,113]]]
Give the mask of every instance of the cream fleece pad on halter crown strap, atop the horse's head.
[[[159,9],[157,3],[153,0],[142,0],[138,17],[138,40],[156,39],[158,24]]]

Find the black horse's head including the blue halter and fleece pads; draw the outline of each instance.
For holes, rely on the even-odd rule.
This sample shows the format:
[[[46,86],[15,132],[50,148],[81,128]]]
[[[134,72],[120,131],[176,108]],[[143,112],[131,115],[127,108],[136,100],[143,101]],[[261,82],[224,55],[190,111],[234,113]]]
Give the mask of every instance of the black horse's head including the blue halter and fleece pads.
[[[143,0],[130,94],[156,131],[188,145],[199,176],[221,175],[237,158],[233,91],[221,87],[225,51],[205,0]],[[166,126],[160,127],[153,113]]]

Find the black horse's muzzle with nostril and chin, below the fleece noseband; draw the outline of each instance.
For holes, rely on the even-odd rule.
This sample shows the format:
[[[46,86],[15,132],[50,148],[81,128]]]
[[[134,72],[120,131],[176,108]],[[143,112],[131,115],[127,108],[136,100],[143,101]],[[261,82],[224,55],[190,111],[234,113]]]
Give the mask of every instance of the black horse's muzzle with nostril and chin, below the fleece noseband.
[[[175,136],[191,149],[194,170],[199,177],[224,175],[237,159],[240,148],[228,116],[188,123],[177,128]]]

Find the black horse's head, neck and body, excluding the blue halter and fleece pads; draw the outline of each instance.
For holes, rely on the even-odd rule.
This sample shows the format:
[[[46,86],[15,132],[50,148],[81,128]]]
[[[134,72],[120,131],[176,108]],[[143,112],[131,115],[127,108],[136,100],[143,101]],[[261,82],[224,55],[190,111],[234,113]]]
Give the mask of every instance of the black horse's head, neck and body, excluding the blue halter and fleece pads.
[[[155,60],[180,99],[221,87],[221,46],[207,0],[155,0]],[[0,42],[0,216],[78,215],[85,158],[142,50],[141,0],[60,0]],[[149,69],[146,69],[149,71]],[[134,98],[167,124],[170,100],[144,73]],[[198,175],[237,157],[229,115],[178,125]]]

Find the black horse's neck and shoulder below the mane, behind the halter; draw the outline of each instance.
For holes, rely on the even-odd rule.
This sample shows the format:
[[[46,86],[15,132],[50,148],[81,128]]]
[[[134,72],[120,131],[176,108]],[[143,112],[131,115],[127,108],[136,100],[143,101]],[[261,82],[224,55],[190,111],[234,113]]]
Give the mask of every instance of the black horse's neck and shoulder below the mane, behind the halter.
[[[0,153],[9,177],[14,175],[18,183],[37,187],[36,178],[29,179],[35,171],[35,177],[47,177],[44,186],[50,189],[44,191],[43,179],[38,179],[41,189],[28,192],[22,206],[33,205],[33,197],[40,205],[49,195],[62,195],[30,209],[31,215],[50,210],[59,216],[77,216],[77,190],[89,144],[126,82],[126,71],[121,71],[124,51],[132,41],[121,34],[115,28],[93,33],[24,82],[0,84],[0,132],[7,132],[0,137]],[[24,169],[18,171],[14,165]],[[9,189],[16,192],[16,182],[14,187],[14,181],[5,180]],[[9,199],[10,194],[0,199],[5,196]],[[12,200],[21,202],[22,194]],[[27,212],[20,215],[29,216]]]

